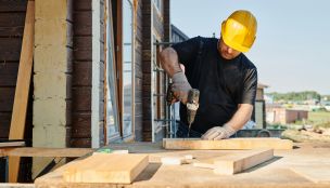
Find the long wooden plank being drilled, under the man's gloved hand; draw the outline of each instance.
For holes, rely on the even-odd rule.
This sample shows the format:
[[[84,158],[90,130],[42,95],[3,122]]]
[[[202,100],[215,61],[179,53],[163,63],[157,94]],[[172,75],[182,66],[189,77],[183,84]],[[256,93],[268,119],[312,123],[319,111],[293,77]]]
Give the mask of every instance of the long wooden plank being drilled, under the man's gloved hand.
[[[292,149],[293,143],[280,138],[229,138],[203,140],[200,138],[164,138],[165,149]]]

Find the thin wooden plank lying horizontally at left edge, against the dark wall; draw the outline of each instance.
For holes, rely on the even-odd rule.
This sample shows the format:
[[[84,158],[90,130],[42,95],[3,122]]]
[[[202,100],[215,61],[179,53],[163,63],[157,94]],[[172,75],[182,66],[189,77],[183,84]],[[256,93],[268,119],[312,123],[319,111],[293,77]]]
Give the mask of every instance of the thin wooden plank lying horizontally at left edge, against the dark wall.
[[[0,149],[1,150],[1,149]],[[2,149],[9,157],[50,157],[50,158],[79,158],[93,151],[91,148],[10,148]]]

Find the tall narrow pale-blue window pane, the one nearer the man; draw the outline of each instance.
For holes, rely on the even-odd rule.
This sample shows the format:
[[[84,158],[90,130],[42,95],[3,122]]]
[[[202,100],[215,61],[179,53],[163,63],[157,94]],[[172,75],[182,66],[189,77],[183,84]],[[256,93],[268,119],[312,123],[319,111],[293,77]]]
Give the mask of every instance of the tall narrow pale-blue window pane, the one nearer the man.
[[[123,137],[132,134],[132,4],[123,0]]]

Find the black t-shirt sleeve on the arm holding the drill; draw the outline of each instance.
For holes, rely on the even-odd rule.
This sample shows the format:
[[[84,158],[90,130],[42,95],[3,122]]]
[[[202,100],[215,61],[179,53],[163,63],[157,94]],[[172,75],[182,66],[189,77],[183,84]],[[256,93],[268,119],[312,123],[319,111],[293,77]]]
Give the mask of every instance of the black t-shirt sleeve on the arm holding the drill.
[[[188,66],[196,57],[202,37],[194,37],[187,41],[176,43],[172,48],[177,52],[179,63]]]

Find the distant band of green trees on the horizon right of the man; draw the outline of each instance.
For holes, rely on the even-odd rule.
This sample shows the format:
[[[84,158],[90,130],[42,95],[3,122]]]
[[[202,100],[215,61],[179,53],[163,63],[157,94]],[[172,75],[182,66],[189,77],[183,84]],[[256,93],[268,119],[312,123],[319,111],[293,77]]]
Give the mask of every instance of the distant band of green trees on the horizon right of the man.
[[[320,100],[321,95],[315,91],[305,91],[305,92],[289,92],[289,93],[268,93],[268,95],[274,96],[274,100],[293,100],[302,102],[307,99]]]

